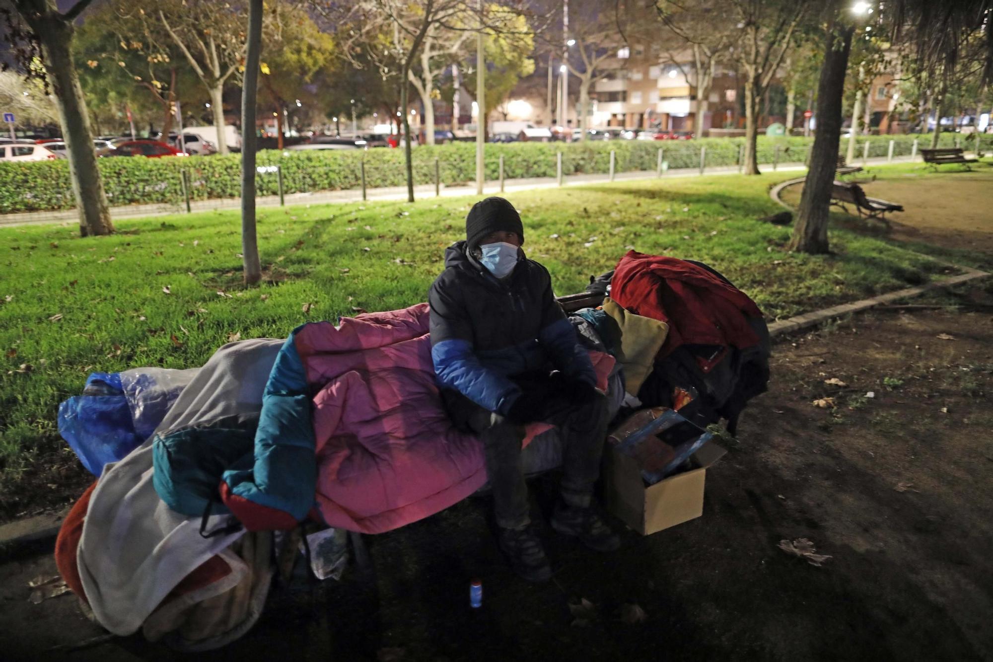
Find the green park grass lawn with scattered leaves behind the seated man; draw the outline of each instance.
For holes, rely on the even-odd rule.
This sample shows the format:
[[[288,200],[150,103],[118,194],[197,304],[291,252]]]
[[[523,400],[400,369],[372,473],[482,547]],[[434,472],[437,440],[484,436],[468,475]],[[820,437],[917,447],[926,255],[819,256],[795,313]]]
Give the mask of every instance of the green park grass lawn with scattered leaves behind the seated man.
[[[851,229],[831,255],[787,252],[770,187],[794,174],[660,179],[507,194],[528,255],[558,294],[580,291],[626,248],[700,259],[770,319],[926,281],[943,266]],[[240,284],[236,211],[128,220],[106,238],[74,226],[0,230],[0,517],[26,485],[77,469],[61,401],[89,372],[202,365],[234,338],[425,300],[472,198],[259,210],[265,282]],[[168,293],[167,290],[168,289]],[[67,469],[67,467],[73,467]],[[13,499],[13,500],[12,500]],[[18,506],[19,507],[19,506]]]

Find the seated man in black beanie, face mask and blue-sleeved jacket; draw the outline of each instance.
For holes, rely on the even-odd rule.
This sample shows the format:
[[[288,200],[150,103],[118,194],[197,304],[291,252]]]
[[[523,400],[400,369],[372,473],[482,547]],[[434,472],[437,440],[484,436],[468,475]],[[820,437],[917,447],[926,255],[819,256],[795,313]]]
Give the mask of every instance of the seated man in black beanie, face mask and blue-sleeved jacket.
[[[518,575],[544,581],[551,569],[529,529],[524,423],[550,422],[562,434],[562,499],[552,528],[598,551],[616,550],[620,540],[591,508],[607,398],[552,295],[548,271],[524,256],[523,243],[509,202],[487,198],[473,206],[466,241],[445,250],[445,270],[428,296],[431,357],[453,420],[483,441],[500,549]]]

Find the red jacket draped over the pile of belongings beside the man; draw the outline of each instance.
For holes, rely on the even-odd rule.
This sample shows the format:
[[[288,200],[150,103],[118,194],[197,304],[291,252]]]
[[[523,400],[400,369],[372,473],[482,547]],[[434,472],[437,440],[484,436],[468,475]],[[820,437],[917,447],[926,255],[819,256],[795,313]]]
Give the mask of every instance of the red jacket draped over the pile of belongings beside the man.
[[[636,315],[669,325],[658,358],[684,343],[742,348],[760,342],[746,319],[762,317],[755,302],[684,259],[629,250],[618,262],[610,296]]]

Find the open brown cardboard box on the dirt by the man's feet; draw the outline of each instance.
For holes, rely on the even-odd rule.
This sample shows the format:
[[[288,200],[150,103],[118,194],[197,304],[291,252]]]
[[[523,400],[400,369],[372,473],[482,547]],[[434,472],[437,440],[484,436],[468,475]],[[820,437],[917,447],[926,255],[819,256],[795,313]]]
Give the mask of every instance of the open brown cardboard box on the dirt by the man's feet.
[[[641,478],[635,459],[607,448],[607,509],[642,536],[674,527],[703,514],[703,483],[707,467],[727,451],[709,441],[690,455],[695,468],[654,485]]]

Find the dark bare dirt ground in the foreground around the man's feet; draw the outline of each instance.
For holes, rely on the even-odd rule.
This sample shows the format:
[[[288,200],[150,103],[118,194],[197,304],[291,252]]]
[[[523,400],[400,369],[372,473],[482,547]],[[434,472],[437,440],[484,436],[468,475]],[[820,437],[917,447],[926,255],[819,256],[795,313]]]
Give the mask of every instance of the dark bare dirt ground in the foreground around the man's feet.
[[[353,566],[274,586],[251,631],[202,657],[993,659],[993,283],[980,282],[781,339],[699,519],[626,530],[607,555],[543,526],[555,576],[531,585],[497,553],[488,501],[468,499],[367,537],[374,577]],[[554,491],[555,476],[532,483],[536,521]],[[830,559],[778,547],[800,538]],[[4,659],[175,659],[140,634],[93,640],[103,632],[71,595],[30,603],[28,581],[55,573],[51,549],[0,551]],[[643,622],[621,618],[626,604]]]

